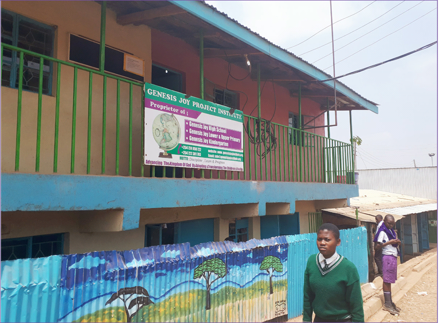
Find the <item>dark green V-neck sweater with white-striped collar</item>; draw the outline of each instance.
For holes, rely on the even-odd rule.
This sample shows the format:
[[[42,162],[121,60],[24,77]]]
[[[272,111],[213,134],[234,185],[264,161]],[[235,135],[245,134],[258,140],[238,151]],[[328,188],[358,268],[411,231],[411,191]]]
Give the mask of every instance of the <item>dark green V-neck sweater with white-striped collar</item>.
[[[352,316],[352,322],[364,322],[357,267],[342,258],[329,270],[323,271],[318,263],[318,255],[309,257],[306,264],[303,322],[312,322],[313,311],[327,322],[342,321],[349,316]]]

